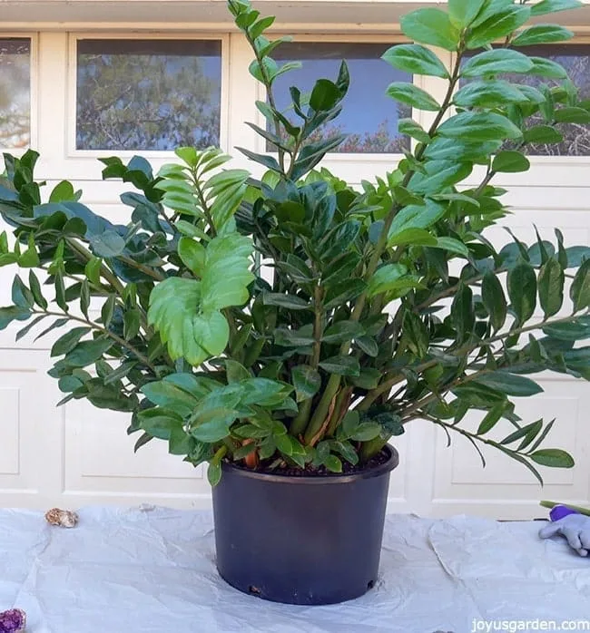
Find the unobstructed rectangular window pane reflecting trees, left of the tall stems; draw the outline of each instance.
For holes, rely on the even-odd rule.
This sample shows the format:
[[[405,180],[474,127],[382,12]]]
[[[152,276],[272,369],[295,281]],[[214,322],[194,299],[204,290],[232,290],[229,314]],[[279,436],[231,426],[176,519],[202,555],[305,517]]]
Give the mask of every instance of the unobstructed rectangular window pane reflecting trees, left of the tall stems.
[[[219,145],[219,40],[80,40],[76,148]]]

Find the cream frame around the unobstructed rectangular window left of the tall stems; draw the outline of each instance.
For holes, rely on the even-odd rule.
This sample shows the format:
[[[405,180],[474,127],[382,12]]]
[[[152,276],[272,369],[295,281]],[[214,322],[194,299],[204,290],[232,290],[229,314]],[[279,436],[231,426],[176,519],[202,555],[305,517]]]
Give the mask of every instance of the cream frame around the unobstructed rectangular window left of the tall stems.
[[[67,33],[67,95],[65,103],[66,140],[64,159],[96,161],[106,155],[116,154],[122,159],[141,155],[148,161],[171,161],[173,151],[167,150],[79,150],[76,148],[77,123],[77,43],[79,40],[217,40],[221,42],[221,102],[220,102],[220,146],[226,150],[230,127],[230,34],[222,32],[161,31],[158,33],[133,31],[86,31]]]

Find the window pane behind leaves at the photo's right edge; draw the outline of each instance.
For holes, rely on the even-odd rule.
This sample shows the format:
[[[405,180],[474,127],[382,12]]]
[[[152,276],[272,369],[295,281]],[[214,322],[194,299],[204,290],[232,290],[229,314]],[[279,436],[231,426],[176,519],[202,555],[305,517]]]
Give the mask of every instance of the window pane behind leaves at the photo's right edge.
[[[590,46],[587,44],[548,44],[544,46],[526,46],[523,52],[545,57],[560,63],[569,78],[578,89],[578,98],[590,100]],[[538,88],[546,84],[549,87],[560,85],[562,80],[547,79],[534,74],[506,74],[502,78],[511,83],[525,83]],[[530,117],[529,127],[543,123],[541,115]],[[526,153],[532,156],[590,156],[590,125],[584,123],[565,123],[557,125],[564,141],[555,145],[529,145]]]

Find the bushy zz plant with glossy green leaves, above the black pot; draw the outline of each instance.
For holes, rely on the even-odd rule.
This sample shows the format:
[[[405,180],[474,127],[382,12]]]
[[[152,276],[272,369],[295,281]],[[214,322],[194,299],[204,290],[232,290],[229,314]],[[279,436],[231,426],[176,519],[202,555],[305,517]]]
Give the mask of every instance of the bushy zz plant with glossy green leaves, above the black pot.
[[[485,232],[508,212],[494,176],[528,170],[531,143],[558,143],[562,125],[590,121],[564,68],[526,54],[572,36],[526,26],[529,17],[578,4],[450,0],[447,13],[403,18],[414,44],[393,46],[384,63],[438,77],[447,93],[438,102],[415,83],[388,86],[432,112],[431,124],[399,121],[413,150],[355,189],[319,167],[343,137],[317,141],[342,108],[346,63],[309,94],[290,88],[280,112],[274,81],[297,64],[272,52],[288,38],[271,40],[272,17],[230,0],[266,89],[256,106],[267,125],[251,127],[275,149],[240,151],[264,176],[224,168],[217,149],[180,148],[156,174],[140,157],[104,159],[104,179],[135,188],[121,196],[123,225],[85,207],[68,181],[44,202],[37,154],[5,155],[0,211],[15,240],[0,237],[0,265],[22,272],[0,327],[26,321],[17,338],[64,328],[50,371],[62,403],[129,412],[136,447],[165,440],[185,461],[208,462],[212,484],[222,460],[362,467],[417,418],[478,451],[497,448],[539,480],[536,464],[571,467],[542,447],[553,421],[521,421],[511,398],[541,392],[528,377],[541,371],[590,379],[590,347],[576,345],[590,336],[590,248],[565,248],[556,230],[555,244],[513,236],[497,250]],[[451,52],[452,67],[428,46]],[[471,174],[477,185],[461,185]],[[465,423],[471,410],[482,412],[477,428]]]

